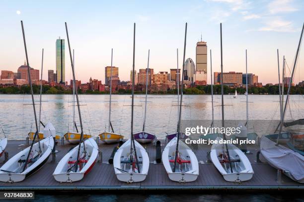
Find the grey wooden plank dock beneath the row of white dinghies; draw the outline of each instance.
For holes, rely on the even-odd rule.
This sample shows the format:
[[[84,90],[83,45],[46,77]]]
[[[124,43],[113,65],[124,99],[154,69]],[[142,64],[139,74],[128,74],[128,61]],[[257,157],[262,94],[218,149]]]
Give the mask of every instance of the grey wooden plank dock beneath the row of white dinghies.
[[[164,142],[162,142],[162,150]],[[8,141],[6,152],[8,157],[12,157],[17,152],[28,147],[25,141]],[[0,190],[304,190],[304,184],[297,183],[284,174],[281,175],[278,171],[271,167],[266,162],[256,162],[256,153],[258,147],[253,146],[248,148],[252,153],[247,154],[252,168],[254,170],[253,178],[246,182],[233,183],[224,180],[212,163],[207,162],[208,147],[199,147],[196,151],[196,156],[199,161],[200,175],[194,182],[178,183],[171,181],[162,163],[155,162],[156,148],[149,144],[146,147],[150,157],[149,173],[145,181],[140,183],[127,184],[117,180],[112,164],[108,163],[108,159],[115,145],[99,144],[99,150],[102,152],[102,161],[98,162],[98,157],[95,166],[84,179],[73,183],[59,183],[53,177],[53,172],[60,159],[70,150],[73,145],[58,143],[56,150],[56,162],[52,162],[52,155],[48,162],[36,173],[26,178],[22,182],[3,183],[0,182]],[[262,159],[262,157],[260,158]],[[0,158],[2,162],[4,154]],[[0,163],[0,166],[3,163]]]

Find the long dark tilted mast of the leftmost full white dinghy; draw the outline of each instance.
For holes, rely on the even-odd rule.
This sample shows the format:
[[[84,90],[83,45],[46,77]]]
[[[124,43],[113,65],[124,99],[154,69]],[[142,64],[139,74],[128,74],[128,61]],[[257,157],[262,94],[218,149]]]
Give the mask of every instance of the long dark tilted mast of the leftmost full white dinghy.
[[[33,109],[34,109],[34,118],[35,118],[35,124],[36,124],[36,133],[34,135],[34,139],[32,141],[30,150],[28,151],[27,157],[26,157],[26,161],[24,163],[24,167],[22,172],[26,169],[26,166],[28,164],[28,159],[29,159],[29,155],[32,152],[33,149],[33,145],[35,142],[36,137],[38,136],[38,146],[39,146],[39,154],[42,153],[41,151],[41,146],[40,146],[40,141],[39,141],[39,129],[38,129],[38,123],[37,123],[37,115],[36,115],[36,108],[35,108],[35,101],[34,101],[34,92],[33,92],[33,86],[32,86],[32,79],[31,79],[31,73],[30,73],[30,66],[29,66],[29,62],[28,62],[28,57],[27,57],[27,49],[26,49],[26,42],[25,42],[25,35],[24,35],[24,28],[23,28],[23,21],[21,20],[21,28],[22,28],[22,35],[23,35],[23,43],[24,43],[24,50],[25,50],[25,57],[26,57],[26,64],[27,64],[27,76],[28,76],[28,81],[30,84],[30,89],[31,89],[31,95],[32,95],[32,102],[33,102]]]

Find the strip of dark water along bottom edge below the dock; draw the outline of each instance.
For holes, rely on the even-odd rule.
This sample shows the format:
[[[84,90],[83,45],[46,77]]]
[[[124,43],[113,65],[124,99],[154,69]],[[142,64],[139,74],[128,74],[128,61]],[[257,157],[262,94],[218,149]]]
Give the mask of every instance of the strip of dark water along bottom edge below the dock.
[[[118,192],[118,191],[117,191]],[[55,194],[55,193],[54,193]],[[238,193],[231,194],[84,194],[64,193],[60,195],[36,194],[35,201],[42,202],[304,202],[301,192]],[[28,200],[27,200],[28,202]]]

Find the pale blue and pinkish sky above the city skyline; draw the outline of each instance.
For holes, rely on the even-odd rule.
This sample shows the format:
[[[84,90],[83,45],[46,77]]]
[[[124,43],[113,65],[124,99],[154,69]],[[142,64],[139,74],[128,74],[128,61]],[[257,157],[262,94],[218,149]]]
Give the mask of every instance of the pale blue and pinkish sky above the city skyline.
[[[280,67],[283,55],[292,68],[304,23],[303,0],[1,0],[0,70],[16,72],[24,63],[25,52],[20,20],[23,20],[30,66],[56,71],[55,43],[66,39],[68,23],[71,49],[75,49],[76,79],[90,77],[104,83],[104,67],[119,67],[120,80],[130,80],[133,54],[133,23],[136,23],[135,69],[147,67],[154,72],[182,68],[185,23],[186,58],[195,62],[196,43],[208,46],[208,83],[210,49],[213,72],[220,71],[220,23],[223,32],[224,72],[245,72],[259,76],[259,82],[278,83],[277,49]],[[185,59],[186,59],[185,58]],[[304,53],[300,51],[295,82],[304,80]],[[66,42],[66,81],[72,79]],[[281,72],[282,73],[282,72]],[[287,72],[289,74],[289,72]],[[70,83],[70,82],[69,82]]]

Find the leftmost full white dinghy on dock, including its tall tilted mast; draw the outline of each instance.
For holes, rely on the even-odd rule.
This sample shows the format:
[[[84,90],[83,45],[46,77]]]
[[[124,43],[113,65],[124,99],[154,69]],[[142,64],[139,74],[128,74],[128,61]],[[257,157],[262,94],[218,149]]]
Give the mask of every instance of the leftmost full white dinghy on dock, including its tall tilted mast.
[[[27,62],[28,78],[29,78],[32,102],[33,102],[36,133],[34,135],[34,138],[33,138],[33,141],[31,143],[30,147],[22,150],[21,152],[18,152],[16,155],[11,157],[8,161],[6,161],[1,166],[0,181],[1,182],[10,182],[10,183],[23,181],[26,177],[32,175],[37,170],[39,170],[39,168],[41,168],[48,160],[48,158],[53,150],[53,147],[54,147],[54,139],[52,136],[49,136],[48,138],[45,138],[41,141],[39,140],[39,137],[38,137],[39,129],[38,129],[38,123],[37,123],[32,80],[30,77],[30,66],[29,66],[28,57],[27,57],[27,49],[26,49],[25,35],[24,35],[22,21],[21,21],[21,27],[22,27],[24,49],[25,49],[25,56],[26,56],[26,62]],[[35,143],[36,138],[38,139],[37,143]]]

